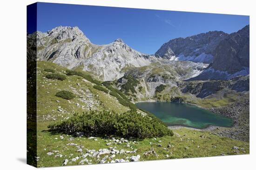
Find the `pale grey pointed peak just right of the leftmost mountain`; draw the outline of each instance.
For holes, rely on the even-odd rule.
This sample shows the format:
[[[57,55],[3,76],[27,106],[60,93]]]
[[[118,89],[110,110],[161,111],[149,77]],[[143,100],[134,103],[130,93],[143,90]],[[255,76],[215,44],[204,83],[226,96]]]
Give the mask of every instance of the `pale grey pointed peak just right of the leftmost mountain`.
[[[142,67],[157,60],[136,51],[125,44],[120,38],[113,43],[101,45],[100,49],[83,61],[83,70],[94,72],[104,81],[113,81],[124,76],[125,68]]]

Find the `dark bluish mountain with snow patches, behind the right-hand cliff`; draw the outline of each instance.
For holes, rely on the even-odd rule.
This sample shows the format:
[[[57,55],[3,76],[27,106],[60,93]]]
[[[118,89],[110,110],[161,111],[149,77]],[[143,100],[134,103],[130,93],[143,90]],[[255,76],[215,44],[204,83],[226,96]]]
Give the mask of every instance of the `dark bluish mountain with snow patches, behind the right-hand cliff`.
[[[212,63],[216,46],[227,36],[223,31],[209,31],[187,38],[175,38],[163,44],[155,55],[168,60]]]

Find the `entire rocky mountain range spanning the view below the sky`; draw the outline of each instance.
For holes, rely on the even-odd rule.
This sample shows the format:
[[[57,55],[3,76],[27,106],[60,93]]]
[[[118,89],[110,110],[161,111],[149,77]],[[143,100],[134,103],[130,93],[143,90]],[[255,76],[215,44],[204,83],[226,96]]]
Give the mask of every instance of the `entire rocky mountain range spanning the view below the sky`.
[[[27,51],[28,60],[81,69],[101,81],[115,81],[127,74],[144,76],[145,80],[155,76],[154,81],[149,81],[158,82],[155,88],[161,81],[168,82],[167,77],[174,77],[175,84],[184,80],[229,80],[249,75],[249,25],[231,34],[209,31],[175,38],[163,44],[155,55],[136,51],[120,38],[96,45],[78,27],[59,26],[28,34]]]

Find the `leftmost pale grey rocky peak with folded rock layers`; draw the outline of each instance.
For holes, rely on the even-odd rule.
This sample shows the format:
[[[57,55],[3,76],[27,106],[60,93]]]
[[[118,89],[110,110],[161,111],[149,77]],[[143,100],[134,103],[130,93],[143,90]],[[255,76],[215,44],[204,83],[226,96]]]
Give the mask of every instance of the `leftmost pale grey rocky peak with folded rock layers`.
[[[98,49],[78,27],[59,26],[46,33],[37,31],[37,59],[74,68]]]

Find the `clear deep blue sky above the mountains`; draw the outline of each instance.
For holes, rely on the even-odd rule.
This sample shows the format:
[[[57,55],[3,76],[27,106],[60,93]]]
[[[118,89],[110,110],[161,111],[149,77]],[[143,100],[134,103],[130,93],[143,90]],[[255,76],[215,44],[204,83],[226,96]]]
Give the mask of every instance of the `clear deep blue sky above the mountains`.
[[[38,31],[78,26],[94,44],[109,44],[121,38],[147,54],[154,54],[173,38],[215,30],[231,33],[249,24],[249,16],[241,15],[54,3],[38,3],[37,19]]]

